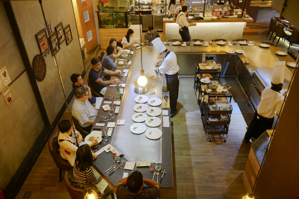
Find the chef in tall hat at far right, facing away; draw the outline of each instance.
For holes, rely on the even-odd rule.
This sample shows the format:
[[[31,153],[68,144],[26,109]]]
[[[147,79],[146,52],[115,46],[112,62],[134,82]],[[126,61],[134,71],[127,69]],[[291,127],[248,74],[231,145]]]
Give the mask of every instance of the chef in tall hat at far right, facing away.
[[[245,134],[244,141],[248,143],[251,137],[259,138],[267,129],[272,129],[274,116],[280,115],[284,97],[280,94],[283,84],[285,61],[274,64],[271,87],[266,87],[261,95],[260,104]]]

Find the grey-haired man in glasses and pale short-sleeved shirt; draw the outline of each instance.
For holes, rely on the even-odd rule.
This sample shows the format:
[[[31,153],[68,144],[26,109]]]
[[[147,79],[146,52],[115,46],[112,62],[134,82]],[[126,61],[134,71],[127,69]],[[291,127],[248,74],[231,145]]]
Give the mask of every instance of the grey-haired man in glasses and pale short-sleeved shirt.
[[[76,90],[76,99],[72,107],[72,115],[78,120],[80,126],[87,132],[91,131],[97,116],[97,109],[87,100],[89,93],[85,87]]]

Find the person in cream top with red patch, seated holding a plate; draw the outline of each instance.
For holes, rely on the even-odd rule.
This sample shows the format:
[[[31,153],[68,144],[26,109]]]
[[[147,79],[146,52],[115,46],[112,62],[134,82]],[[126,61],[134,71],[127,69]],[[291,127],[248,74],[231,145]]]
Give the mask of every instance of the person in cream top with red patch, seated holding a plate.
[[[83,141],[82,135],[76,129],[73,129],[73,125],[70,120],[60,121],[58,123],[58,129],[60,130],[58,135],[58,144],[60,146],[59,155],[73,166],[79,143]],[[97,140],[89,146],[94,146],[96,142]]]

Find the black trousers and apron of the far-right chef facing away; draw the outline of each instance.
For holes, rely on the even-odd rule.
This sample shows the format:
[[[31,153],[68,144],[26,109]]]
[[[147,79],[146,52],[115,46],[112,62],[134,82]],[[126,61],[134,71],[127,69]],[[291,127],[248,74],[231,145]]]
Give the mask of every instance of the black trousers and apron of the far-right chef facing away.
[[[259,117],[259,119],[257,117]],[[248,130],[245,133],[245,138],[247,140],[250,140],[251,137],[254,137],[255,139],[259,138],[267,129],[272,129],[273,122],[274,117],[265,118],[259,115],[257,111],[255,111],[253,119],[248,127]]]

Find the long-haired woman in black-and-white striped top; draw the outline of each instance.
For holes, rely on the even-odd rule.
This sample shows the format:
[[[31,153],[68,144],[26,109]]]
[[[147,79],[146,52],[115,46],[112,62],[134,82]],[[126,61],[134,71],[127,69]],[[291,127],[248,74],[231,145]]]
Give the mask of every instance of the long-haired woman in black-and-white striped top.
[[[94,175],[94,172],[90,168],[92,161],[91,148],[87,144],[80,146],[77,149],[74,163],[74,186],[83,189],[86,193],[88,189],[99,193],[95,185],[100,182],[100,179]]]

